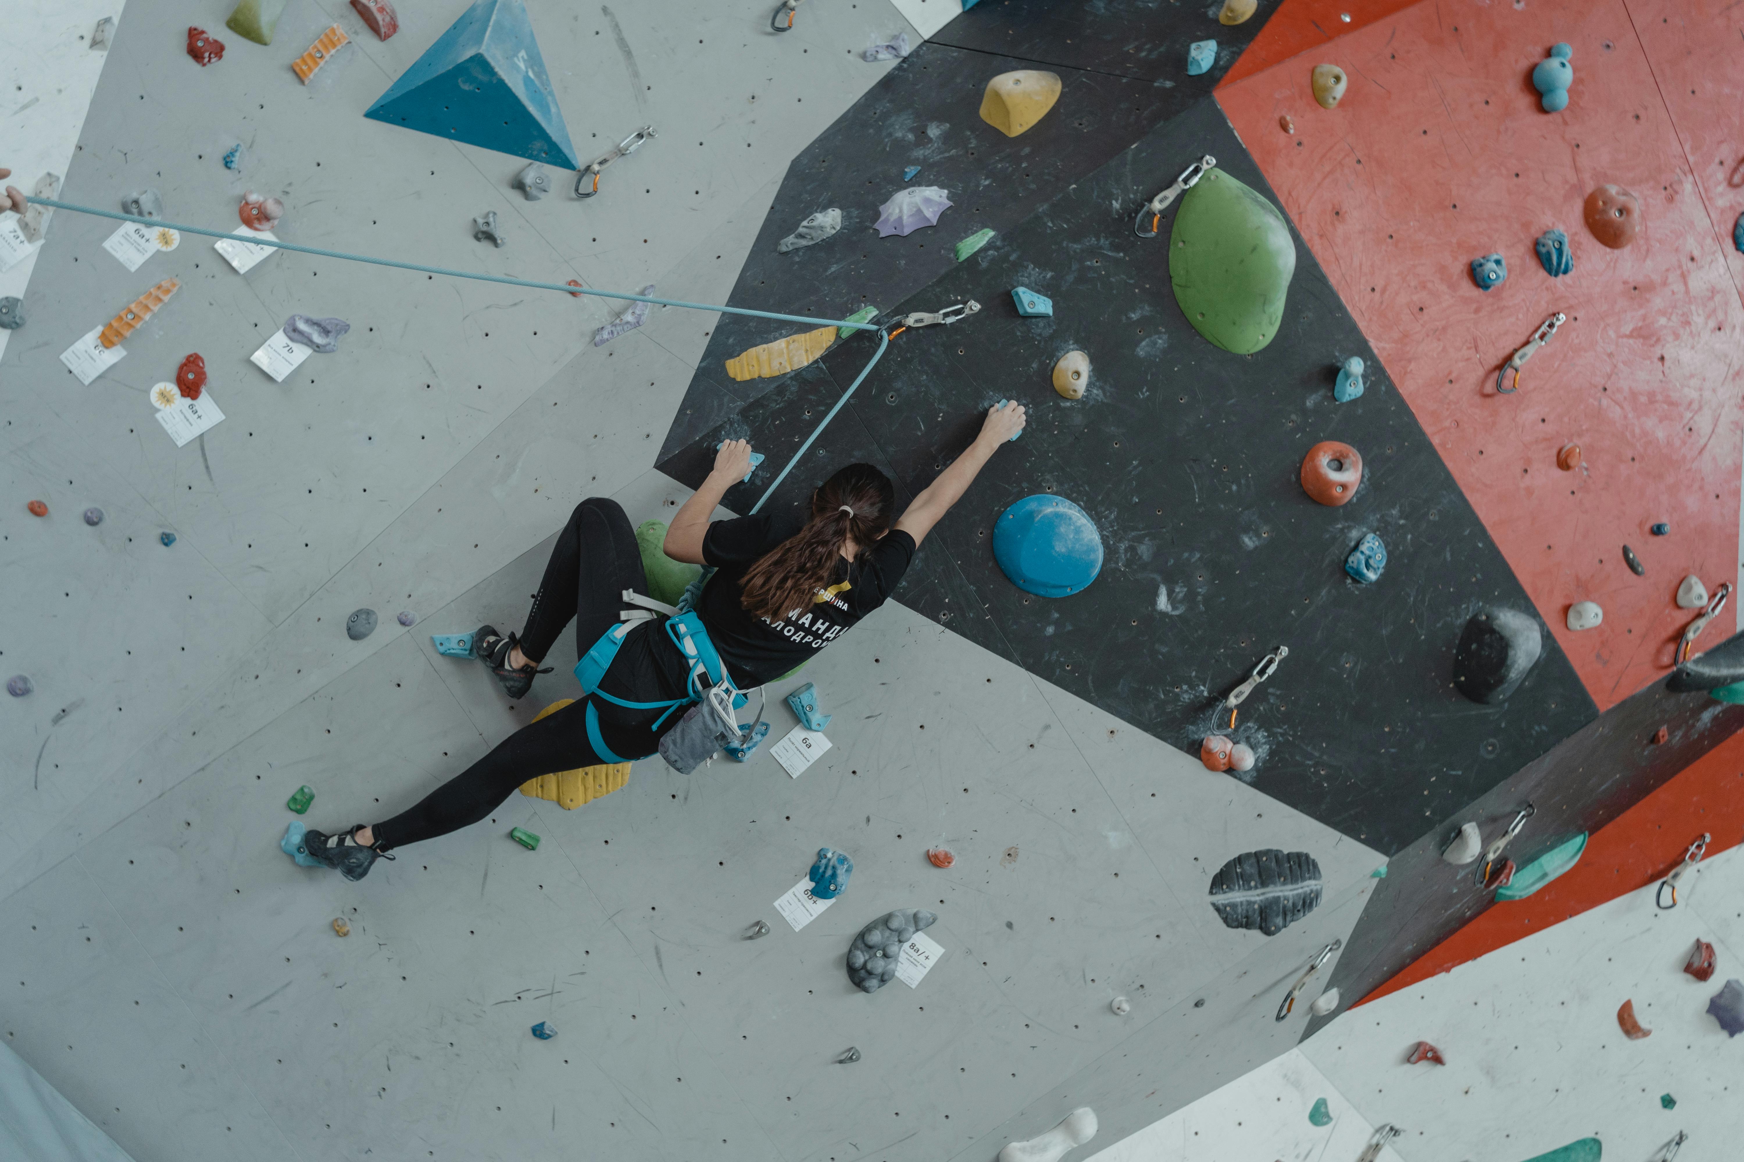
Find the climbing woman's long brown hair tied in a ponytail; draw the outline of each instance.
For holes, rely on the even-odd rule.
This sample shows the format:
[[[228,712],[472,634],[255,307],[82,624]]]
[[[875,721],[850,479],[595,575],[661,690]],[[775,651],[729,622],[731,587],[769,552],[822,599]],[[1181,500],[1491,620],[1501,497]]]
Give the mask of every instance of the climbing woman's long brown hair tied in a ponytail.
[[[811,605],[835,575],[842,545],[853,537],[865,552],[893,521],[896,486],[870,463],[849,463],[811,493],[811,521],[764,554],[745,573],[739,605],[753,617],[780,622]],[[851,512],[848,510],[851,509]]]

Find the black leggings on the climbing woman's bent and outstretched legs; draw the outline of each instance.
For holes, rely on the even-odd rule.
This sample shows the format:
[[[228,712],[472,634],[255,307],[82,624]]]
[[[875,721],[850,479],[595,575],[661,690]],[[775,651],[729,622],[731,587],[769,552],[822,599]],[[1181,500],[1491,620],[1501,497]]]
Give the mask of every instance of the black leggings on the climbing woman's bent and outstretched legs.
[[[586,653],[600,634],[617,624],[624,589],[647,594],[642,552],[630,517],[616,500],[582,500],[551,549],[544,580],[539,582],[534,608],[527,615],[521,653],[528,660],[544,659],[572,617],[576,652]],[[485,819],[535,775],[605,763],[588,744],[588,702],[589,699],[577,699],[555,714],[521,726],[415,807],[375,824],[375,841],[385,850],[459,831]],[[631,749],[621,749],[619,740],[630,739],[631,732],[628,725],[614,721],[621,718],[612,713],[617,707],[602,704],[602,711],[607,713],[602,713],[600,733],[609,747],[619,754],[640,754],[647,749],[645,725],[638,739],[623,742]],[[637,746],[642,749],[633,749]]]

